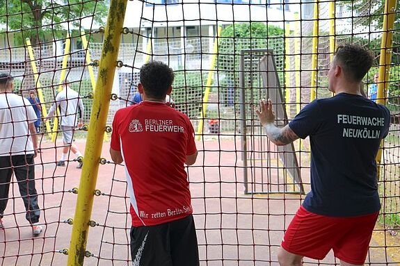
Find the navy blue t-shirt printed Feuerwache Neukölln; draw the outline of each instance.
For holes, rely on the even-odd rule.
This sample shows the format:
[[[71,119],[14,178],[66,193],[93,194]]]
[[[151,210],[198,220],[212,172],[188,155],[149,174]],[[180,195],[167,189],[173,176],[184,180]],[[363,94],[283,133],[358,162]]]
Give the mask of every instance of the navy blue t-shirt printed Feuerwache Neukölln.
[[[311,191],[303,207],[319,215],[352,217],[381,208],[376,153],[390,126],[390,112],[365,97],[339,93],[312,101],[289,123],[310,136]]]

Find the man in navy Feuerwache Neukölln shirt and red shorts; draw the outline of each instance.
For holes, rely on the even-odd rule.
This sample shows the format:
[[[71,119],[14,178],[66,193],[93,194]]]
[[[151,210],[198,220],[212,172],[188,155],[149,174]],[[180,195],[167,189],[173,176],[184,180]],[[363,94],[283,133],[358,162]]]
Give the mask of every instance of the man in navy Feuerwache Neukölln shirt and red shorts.
[[[312,101],[284,128],[273,124],[271,100],[260,101],[257,115],[271,142],[310,136],[311,191],[287,228],[280,265],[321,260],[330,249],[341,265],[365,263],[381,208],[375,158],[390,126],[389,110],[360,91],[373,60],[358,45],[339,47],[328,72],[335,96]]]

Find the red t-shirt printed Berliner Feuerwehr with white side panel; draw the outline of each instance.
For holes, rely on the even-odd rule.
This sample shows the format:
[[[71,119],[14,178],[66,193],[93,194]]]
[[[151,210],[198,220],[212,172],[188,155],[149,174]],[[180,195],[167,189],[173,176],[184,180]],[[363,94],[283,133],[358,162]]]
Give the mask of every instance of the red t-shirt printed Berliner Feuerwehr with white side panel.
[[[115,113],[111,149],[121,151],[133,226],[192,213],[186,156],[197,151],[189,118],[165,103],[143,101]]]

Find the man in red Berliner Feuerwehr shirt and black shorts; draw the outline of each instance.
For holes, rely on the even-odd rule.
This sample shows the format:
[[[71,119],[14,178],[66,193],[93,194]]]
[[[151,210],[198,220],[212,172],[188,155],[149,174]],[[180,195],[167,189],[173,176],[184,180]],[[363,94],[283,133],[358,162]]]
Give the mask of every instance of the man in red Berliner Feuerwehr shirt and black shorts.
[[[141,67],[143,101],[115,113],[111,158],[125,161],[131,198],[132,265],[197,266],[198,243],[184,164],[198,155],[193,126],[165,102],[173,70],[152,61]]]

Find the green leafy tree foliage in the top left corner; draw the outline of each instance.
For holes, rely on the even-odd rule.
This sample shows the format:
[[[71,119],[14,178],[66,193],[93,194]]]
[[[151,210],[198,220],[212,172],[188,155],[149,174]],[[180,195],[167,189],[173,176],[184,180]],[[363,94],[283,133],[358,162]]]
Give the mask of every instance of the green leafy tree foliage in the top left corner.
[[[26,38],[33,45],[65,36],[65,31],[79,28],[81,20],[93,16],[104,22],[107,7],[104,1],[94,0],[0,0],[0,24],[3,33],[13,33],[15,45]]]

